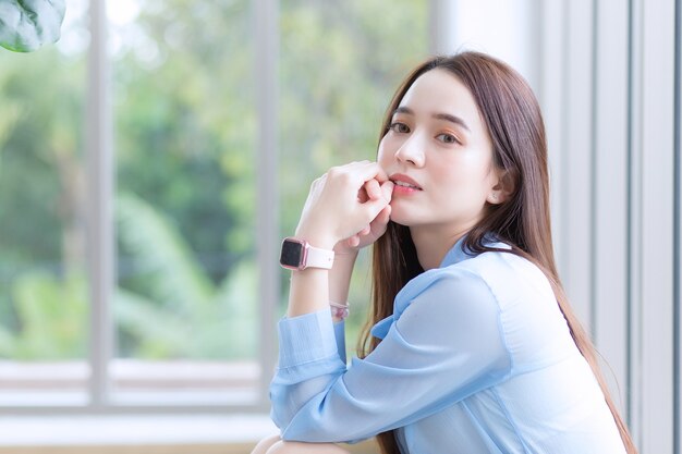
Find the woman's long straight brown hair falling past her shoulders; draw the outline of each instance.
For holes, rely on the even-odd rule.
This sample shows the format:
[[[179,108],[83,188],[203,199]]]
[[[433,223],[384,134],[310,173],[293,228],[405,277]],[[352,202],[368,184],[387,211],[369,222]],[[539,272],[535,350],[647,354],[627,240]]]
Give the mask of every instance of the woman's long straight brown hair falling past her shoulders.
[[[465,248],[473,253],[504,250],[537,265],[549,280],[575,345],[583,354],[601,386],[629,454],[637,452],[628,427],[613,404],[599,370],[597,353],[589,336],[573,314],[555,262],[549,212],[547,140],[540,109],[523,77],[506,63],[478,52],[435,57],[418,65],[398,88],[387,109],[379,139],[388,132],[393,112],[412,84],[424,73],[440,69],[453,74],[472,93],[492,143],[494,163],[511,182],[507,201],[488,207],[484,219],[467,234]],[[494,233],[512,246],[491,249],[484,236]],[[465,249],[466,250],[466,249]],[[369,328],[393,312],[398,292],[421,268],[410,230],[389,222],[386,234],[374,245],[372,312],[358,345],[365,356],[380,340]],[[377,437],[383,454],[399,454],[393,431]]]

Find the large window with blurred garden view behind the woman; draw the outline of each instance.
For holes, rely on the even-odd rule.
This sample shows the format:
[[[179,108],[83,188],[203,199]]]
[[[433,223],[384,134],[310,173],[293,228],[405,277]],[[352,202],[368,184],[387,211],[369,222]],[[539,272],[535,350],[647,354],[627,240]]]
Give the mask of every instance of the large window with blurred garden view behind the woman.
[[[427,53],[427,2],[281,1],[267,30],[279,96],[266,100],[279,164],[265,185],[271,74],[257,74],[254,23],[273,11],[109,2],[107,42],[101,2],[66,8],[58,46],[0,53],[0,406],[264,408],[276,345],[261,330],[256,232],[272,207],[259,192],[277,195],[266,229],[283,236],[302,182],[374,157],[392,90]],[[277,268],[267,284],[272,321],[285,280]],[[351,299],[355,338],[365,256]]]

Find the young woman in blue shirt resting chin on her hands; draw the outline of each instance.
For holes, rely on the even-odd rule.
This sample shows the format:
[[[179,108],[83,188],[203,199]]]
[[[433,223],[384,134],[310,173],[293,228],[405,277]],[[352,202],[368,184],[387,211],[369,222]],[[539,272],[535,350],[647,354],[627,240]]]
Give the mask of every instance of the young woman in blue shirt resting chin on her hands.
[[[369,244],[374,327],[346,366],[343,305]],[[271,383],[281,434],[255,453],[375,435],[383,453],[636,452],[557,274],[539,107],[504,63],[416,68],[378,162],[314,182],[282,261],[296,270]]]

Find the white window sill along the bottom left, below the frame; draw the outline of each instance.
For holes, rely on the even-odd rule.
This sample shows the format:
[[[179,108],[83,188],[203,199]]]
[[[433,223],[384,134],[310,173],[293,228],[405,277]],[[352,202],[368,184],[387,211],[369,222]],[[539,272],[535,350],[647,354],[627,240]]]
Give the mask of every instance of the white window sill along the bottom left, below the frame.
[[[266,415],[2,416],[0,454],[248,453],[277,432]]]

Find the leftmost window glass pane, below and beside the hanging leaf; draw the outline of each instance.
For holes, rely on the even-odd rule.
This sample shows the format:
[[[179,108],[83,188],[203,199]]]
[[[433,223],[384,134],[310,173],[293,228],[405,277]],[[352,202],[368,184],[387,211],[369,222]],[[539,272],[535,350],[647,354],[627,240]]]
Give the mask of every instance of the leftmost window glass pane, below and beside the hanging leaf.
[[[87,401],[86,8],[57,45],[0,48],[0,406]]]

